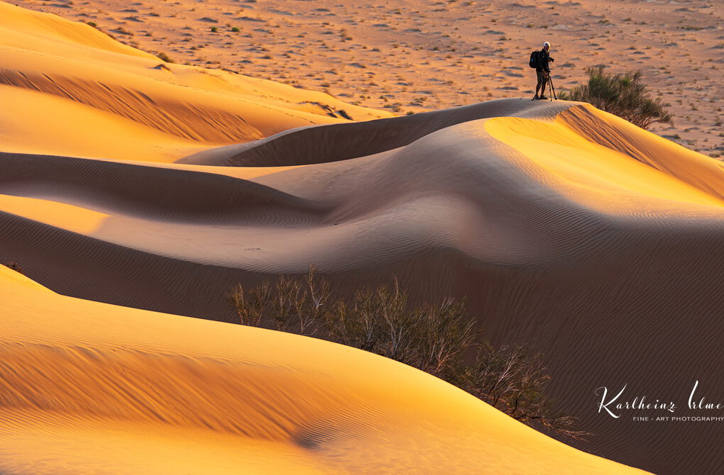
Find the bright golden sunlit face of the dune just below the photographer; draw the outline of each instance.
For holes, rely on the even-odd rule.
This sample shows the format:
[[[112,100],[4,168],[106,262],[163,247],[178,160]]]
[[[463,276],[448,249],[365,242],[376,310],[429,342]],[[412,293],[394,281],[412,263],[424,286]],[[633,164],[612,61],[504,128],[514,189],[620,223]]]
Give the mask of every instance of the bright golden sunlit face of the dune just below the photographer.
[[[643,155],[623,140],[609,140],[601,145],[591,140],[590,135],[581,134],[583,127],[576,127],[586,117],[584,133],[599,130],[596,126],[610,121],[607,115],[610,114],[592,106],[576,106],[550,122],[515,117],[489,119],[485,130],[525,156],[526,163],[521,163],[521,168],[533,175],[534,168],[544,170],[537,178],[587,207],[612,213],[638,212],[632,206],[636,201],[644,205],[657,201],[724,207],[724,174],[715,161],[702,160],[699,154],[681,153],[683,150],[676,150],[680,145],[658,142],[657,139],[663,139],[641,129],[636,131],[641,142],[665,150]],[[574,127],[571,117],[577,119]],[[616,131],[627,129],[623,124],[616,125],[617,129],[609,127]],[[615,136],[602,132],[597,137]],[[541,153],[543,144],[545,153]]]

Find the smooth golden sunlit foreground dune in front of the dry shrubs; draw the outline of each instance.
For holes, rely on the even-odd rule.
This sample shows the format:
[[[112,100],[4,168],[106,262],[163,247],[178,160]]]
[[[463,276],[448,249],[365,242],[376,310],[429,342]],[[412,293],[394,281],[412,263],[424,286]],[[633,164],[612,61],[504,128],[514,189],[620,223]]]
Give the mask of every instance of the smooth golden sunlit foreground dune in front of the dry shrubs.
[[[353,348],[0,284],[3,473],[644,473]]]

